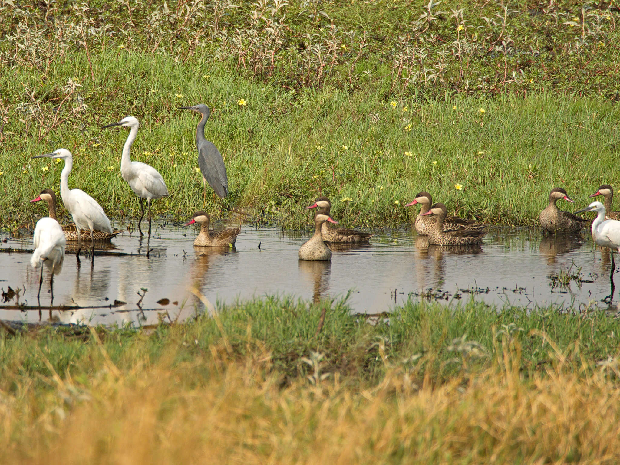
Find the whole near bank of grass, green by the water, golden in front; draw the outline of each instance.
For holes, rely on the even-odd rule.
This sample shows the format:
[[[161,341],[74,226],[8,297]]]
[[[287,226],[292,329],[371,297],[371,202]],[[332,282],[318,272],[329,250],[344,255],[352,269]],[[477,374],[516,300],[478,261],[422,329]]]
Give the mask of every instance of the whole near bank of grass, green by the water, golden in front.
[[[337,304],[315,337],[322,305],[1,339],[0,460],[618,461],[613,317],[411,304],[373,327]]]

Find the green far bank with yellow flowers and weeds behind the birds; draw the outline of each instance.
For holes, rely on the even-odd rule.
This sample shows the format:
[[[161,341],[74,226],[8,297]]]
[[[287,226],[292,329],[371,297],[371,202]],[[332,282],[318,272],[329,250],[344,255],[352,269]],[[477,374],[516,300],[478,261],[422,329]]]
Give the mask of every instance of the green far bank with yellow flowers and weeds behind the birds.
[[[30,157],[60,147],[74,153],[70,187],[109,216],[136,216],[118,170],[126,131],[99,130],[126,115],[141,122],[133,159],[156,167],[171,192],[155,211],[187,219],[202,207],[197,118],[177,107],[198,102],[213,108],[206,137],[228,169],[224,205],[249,221],[306,227],[303,207],[328,195],[347,225],[394,226],[415,214],[404,203],[428,190],[451,213],[533,225],[552,187],[582,206],[613,184],[616,11],[518,2],[505,15],[498,4],[448,1],[427,20],[412,1],[327,2],[319,9],[331,29],[310,16],[315,2],[290,3],[270,4],[258,21],[249,3],[224,13],[221,2],[189,12],[95,2],[80,14],[65,2],[21,12],[6,4],[0,226],[32,226],[42,213],[28,201],[58,190],[62,166]],[[207,197],[206,210],[221,210]]]

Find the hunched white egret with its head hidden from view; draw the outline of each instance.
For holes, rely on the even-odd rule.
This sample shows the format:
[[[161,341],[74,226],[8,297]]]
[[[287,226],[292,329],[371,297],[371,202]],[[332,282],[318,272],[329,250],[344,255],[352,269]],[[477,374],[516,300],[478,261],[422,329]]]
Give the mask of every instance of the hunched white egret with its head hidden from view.
[[[35,236],[33,238],[35,251],[30,259],[30,265],[32,265],[33,268],[41,267],[41,278],[39,279],[37,299],[41,294],[41,285],[43,284],[43,265],[45,265],[51,273],[51,299],[54,299],[54,275],[60,275],[63,269],[64,247],[66,244],[63,228],[60,227],[58,221],[48,216],[37,221]]]

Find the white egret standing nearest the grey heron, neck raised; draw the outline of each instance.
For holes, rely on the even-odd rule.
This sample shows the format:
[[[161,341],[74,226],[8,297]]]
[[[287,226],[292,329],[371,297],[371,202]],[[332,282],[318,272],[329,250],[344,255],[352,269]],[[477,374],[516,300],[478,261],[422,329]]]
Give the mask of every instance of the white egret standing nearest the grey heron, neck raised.
[[[151,228],[151,200],[156,198],[166,197],[168,194],[168,188],[166,187],[166,183],[164,182],[164,178],[159,172],[154,169],[154,167],[149,166],[146,163],[142,163],[139,161],[131,161],[129,157],[129,151],[131,149],[131,144],[136,139],[136,135],[138,134],[138,127],[140,123],[134,117],[125,117],[120,120],[118,123],[112,123],[109,125],[101,126],[104,128],[112,128],[113,126],[123,126],[129,127],[131,130],[129,131],[129,136],[125,141],[125,145],[123,146],[123,156],[120,159],[120,174],[123,176],[123,179],[128,182],[131,190],[138,195],[140,199],[140,219],[138,220],[138,230],[140,230],[140,223],[142,222],[142,218],[144,217],[144,202],[143,200],[146,198],[146,203],[149,206],[149,231]],[[142,231],[140,230],[140,235],[142,236]]]

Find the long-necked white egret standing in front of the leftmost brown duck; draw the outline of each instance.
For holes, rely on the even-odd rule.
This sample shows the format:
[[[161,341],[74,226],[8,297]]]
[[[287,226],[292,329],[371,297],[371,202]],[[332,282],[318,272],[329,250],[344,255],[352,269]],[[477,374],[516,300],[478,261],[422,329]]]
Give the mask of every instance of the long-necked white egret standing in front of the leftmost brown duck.
[[[107,216],[105,216],[104,209],[101,208],[99,203],[88,195],[86,192],[80,189],[69,189],[69,173],[71,173],[71,169],[73,169],[73,155],[67,149],[58,149],[53,151],[52,153],[46,153],[43,155],[37,155],[33,158],[60,158],[64,160],[64,168],[60,174],[60,197],[63,199],[64,206],[71,216],[73,217],[73,221],[76,224],[76,227],[79,231],[91,231],[91,242],[92,242],[92,255],[91,260],[92,263],[95,263],[95,241],[93,231],[95,229],[99,231],[107,232],[108,234],[112,234],[114,231],[112,229],[112,224],[110,224],[110,220]],[[76,257],[78,257],[79,262],[79,252],[82,250],[82,236],[78,234],[78,252],[76,252]]]

